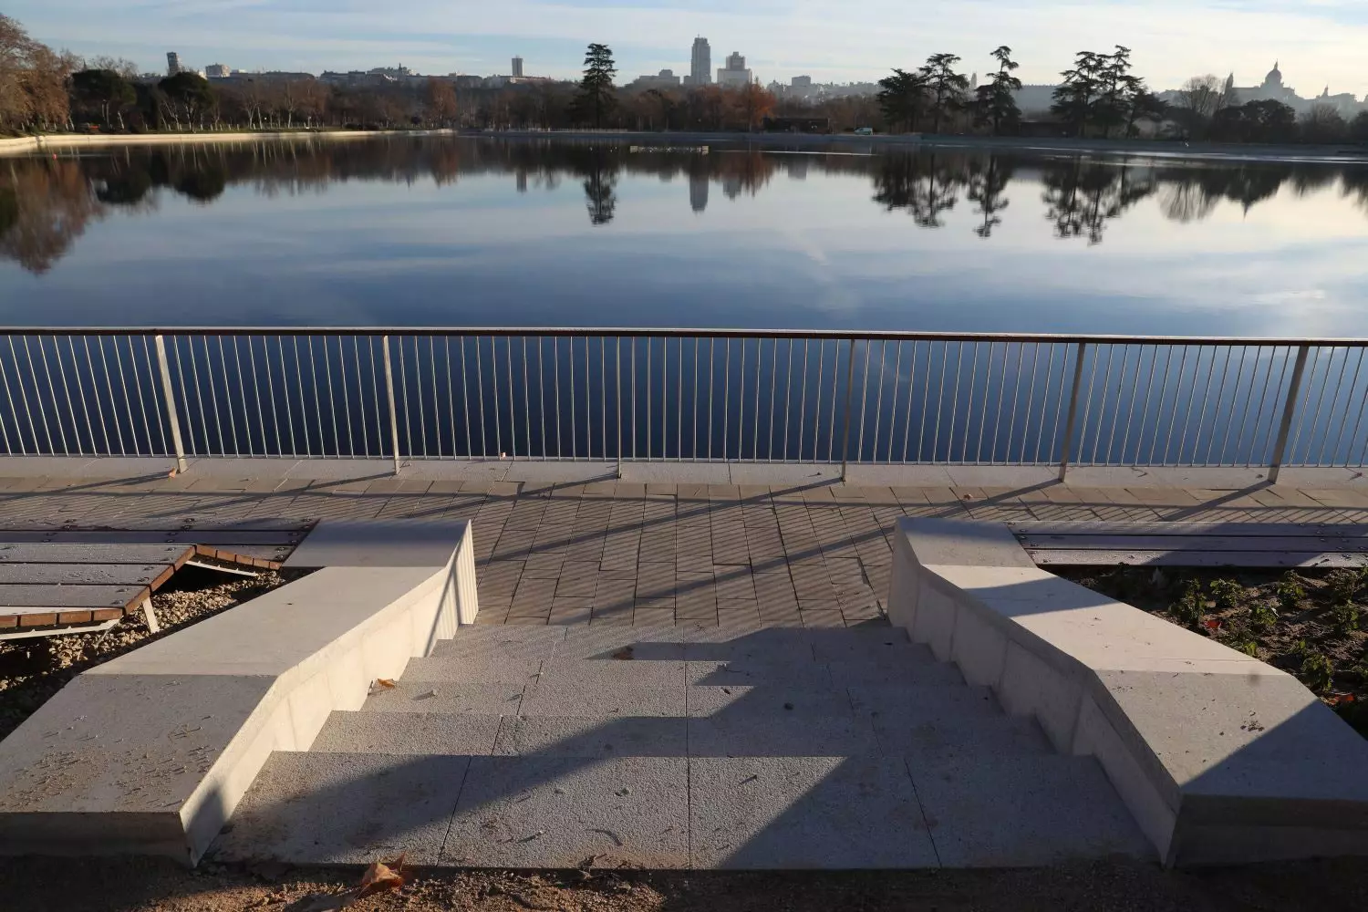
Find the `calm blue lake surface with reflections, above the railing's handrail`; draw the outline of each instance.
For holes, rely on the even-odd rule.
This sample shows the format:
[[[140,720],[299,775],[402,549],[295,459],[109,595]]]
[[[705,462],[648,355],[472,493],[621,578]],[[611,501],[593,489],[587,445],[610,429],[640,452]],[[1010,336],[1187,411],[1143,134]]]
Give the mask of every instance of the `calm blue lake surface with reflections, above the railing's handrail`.
[[[1368,167],[492,139],[0,163],[8,325],[1368,335]]]

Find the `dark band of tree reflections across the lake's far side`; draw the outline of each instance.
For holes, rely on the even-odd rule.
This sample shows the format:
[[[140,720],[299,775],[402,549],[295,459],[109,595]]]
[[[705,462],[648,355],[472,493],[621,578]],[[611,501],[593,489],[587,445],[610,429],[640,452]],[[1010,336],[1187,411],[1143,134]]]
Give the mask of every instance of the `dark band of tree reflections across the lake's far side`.
[[[709,208],[713,185],[728,200],[755,197],[776,175],[860,176],[871,201],[906,212],[915,226],[945,228],[962,200],[973,204],[973,232],[992,239],[1012,224],[1011,197],[1030,193],[1060,239],[1103,243],[1107,228],[1153,197],[1163,217],[1194,223],[1222,202],[1249,212],[1287,187],[1297,196],[1337,187],[1368,211],[1368,170],[1295,163],[1181,163],[1086,156],[1029,157],[974,152],[836,152],[784,155],[747,148],[640,150],[622,145],[553,141],[267,142],[120,149],[74,157],[11,159],[0,167],[0,256],[44,273],[88,226],[112,211],[152,212],[164,193],[213,205],[230,187],[264,198],[315,193],[335,183],[431,180],[443,187],[475,175],[513,175],[517,193],[583,187],[594,227],[621,215],[628,176],[683,176],[695,213]],[[1027,216],[1025,212],[1021,219]]]

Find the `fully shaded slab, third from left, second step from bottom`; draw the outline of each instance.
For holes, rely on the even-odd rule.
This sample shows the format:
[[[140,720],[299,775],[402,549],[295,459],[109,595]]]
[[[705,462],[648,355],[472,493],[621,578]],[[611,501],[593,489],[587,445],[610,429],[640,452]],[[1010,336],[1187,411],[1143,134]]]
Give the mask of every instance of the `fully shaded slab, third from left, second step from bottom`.
[[[691,757],[799,757],[878,755],[878,738],[869,716],[778,715],[718,712],[688,719]]]

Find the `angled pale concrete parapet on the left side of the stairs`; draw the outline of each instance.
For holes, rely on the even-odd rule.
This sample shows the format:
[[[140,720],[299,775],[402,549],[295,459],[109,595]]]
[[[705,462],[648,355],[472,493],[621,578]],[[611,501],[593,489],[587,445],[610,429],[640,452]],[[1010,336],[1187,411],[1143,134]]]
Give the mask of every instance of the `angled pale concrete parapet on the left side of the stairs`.
[[[330,712],[473,623],[471,524],[413,525],[378,524],[379,563],[334,548],[337,563],[77,677],[0,741],[0,853],[198,861],[272,751],[306,751]]]

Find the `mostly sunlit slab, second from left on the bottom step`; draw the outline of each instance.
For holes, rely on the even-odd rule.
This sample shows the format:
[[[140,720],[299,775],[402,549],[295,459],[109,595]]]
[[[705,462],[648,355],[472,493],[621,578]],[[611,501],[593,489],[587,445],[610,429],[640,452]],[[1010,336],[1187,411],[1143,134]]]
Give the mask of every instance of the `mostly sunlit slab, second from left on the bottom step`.
[[[684,868],[684,757],[473,757],[445,864]]]

